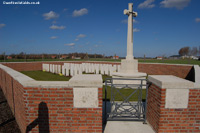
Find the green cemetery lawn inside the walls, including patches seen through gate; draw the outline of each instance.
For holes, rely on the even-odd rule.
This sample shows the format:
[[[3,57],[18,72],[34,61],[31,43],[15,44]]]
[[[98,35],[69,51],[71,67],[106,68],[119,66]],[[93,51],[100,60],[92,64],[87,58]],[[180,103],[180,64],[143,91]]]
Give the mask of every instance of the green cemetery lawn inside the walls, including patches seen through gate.
[[[21,73],[38,81],[69,81],[69,79],[71,78],[71,77],[60,76],[58,74],[52,74],[50,72],[43,72],[43,71],[22,71]],[[102,75],[102,78],[103,78],[103,82],[105,82],[105,80],[107,78],[111,78],[111,76]],[[131,90],[131,89],[124,89],[124,90],[121,90],[120,92],[124,96],[128,96],[133,91],[134,90]],[[146,90],[142,90],[142,99],[145,99],[145,96],[146,96]],[[107,100],[110,100],[110,98],[111,98],[111,88],[108,86]],[[105,99],[105,86],[103,86],[103,99]],[[137,99],[138,99],[137,95],[134,95],[130,98],[130,101],[136,101]],[[115,100],[116,101],[122,100],[122,97],[119,95],[119,93],[117,93]]]

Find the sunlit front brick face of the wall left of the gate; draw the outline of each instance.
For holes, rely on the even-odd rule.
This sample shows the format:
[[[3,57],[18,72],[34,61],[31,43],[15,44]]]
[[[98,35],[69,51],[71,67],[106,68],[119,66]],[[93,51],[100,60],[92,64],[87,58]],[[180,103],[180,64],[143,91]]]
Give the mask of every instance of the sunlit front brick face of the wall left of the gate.
[[[33,128],[32,132],[102,132],[102,89],[99,88],[99,108],[73,108],[73,88],[25,88],[26,122],[32,125],[37,118],[49,123]],[[41,112],[40,104],[46,104],[46,112]],[[39,114],[48,115],[41,119]],[[39,124],[40,122],[35,122]],[[33,124],[34,125],[34,124]],[[46,129],[48,130],[48,129]]]

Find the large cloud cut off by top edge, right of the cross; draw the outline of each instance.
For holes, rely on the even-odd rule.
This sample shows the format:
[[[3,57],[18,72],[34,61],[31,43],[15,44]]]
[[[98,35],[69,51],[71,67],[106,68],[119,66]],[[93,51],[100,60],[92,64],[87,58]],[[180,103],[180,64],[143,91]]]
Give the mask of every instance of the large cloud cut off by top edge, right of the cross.
[[[191,0],[163,0],[160,2],[161,7],[183,9],[187,7]]]

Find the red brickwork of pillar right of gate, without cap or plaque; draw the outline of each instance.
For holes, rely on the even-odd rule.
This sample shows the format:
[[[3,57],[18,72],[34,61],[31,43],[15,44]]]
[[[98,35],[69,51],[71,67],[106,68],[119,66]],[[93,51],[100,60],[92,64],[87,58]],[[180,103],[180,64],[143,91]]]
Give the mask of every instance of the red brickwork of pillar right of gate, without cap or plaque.
[[[200,90],[190,89],[188,108],[165,108],[165,92],[152,84],[148,90],[147,121],[156,132],[200,132]]]

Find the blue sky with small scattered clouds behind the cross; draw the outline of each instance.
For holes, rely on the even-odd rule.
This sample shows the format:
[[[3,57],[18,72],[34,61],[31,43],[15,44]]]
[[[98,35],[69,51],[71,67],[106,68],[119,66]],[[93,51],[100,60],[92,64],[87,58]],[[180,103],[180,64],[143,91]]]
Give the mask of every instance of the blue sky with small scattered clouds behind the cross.
[[[128,3],[133,54],[156,57],[200,46],[200,0],[0,0],[0,54],[84,52],[126,56]],[[22,1],[23,2],[23,1]]]

